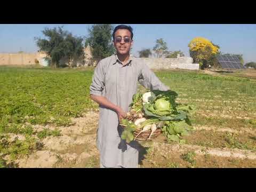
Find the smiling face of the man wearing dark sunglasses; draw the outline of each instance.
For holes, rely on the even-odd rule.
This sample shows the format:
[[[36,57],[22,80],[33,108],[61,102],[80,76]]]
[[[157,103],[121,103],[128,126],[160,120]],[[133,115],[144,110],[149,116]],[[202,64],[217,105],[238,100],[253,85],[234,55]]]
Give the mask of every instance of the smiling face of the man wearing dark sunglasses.
[[[118,29],[113,42],[118,54],[128,54],[133,43],[130,31],[127,29]]]

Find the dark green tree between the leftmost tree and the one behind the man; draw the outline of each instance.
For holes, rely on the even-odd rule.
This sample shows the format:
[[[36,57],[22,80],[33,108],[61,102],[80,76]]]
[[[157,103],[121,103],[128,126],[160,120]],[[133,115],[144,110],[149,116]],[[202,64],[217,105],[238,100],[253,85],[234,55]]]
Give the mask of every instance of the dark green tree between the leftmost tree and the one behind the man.
[[[68,66],[72,68],[74,60],[84,59],[83,38],[67,34],[64,42],[64,54],[68,58]]]

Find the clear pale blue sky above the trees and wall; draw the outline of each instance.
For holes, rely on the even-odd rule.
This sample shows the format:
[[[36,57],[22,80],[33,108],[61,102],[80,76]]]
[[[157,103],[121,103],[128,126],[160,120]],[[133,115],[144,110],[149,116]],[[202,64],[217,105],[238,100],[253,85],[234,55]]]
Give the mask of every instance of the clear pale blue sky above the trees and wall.
[[[163,38],[169,51],[181,50],[189,57],[188,43],[204,37],[220,46],[222,53],[243,54],[246,62],[256,62],[255,24],[129,24],[133,28],[131,53],[138,56],[143,48],[153,49],[156,39]],[[35,37],[44,37],[45,27],[63,26],[74,35],[88,35],[90,24],[0,24],[0,53],[36,52]],[[117,26],[117,24],[114,24]]]

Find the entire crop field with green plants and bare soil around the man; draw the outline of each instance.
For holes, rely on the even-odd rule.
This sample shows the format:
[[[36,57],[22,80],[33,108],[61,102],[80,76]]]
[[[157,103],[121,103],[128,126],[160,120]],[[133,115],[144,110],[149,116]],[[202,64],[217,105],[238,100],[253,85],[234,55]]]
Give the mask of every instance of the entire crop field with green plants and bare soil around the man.
[[[256,70],[156,70],[196,107],[186,143],[140,142],[139,167],[256,167]],[[99,167],[93,69],[0,67],[0,167]],[[139,90],[143,90],[139,87]]]

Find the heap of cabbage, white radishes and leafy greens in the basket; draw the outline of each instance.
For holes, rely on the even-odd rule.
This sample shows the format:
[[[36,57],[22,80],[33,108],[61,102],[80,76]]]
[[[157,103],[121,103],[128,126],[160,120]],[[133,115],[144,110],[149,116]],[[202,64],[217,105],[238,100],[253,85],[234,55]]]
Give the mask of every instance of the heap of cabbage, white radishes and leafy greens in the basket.
[[[185,143],[181,137],[193,130],[188,117],[194,112],[194,108],[176,103],[177,96],[178,94],[171,90],[134,94],[131,110],[126,117],[128,119],[123,119],[121,122],[124,127],[121,138],[129,143],[142,132],[151,130],[149,140],[157,129],[161,129],[168,140]],[[134,131],[139,131],[134,135],[135,138]]]

